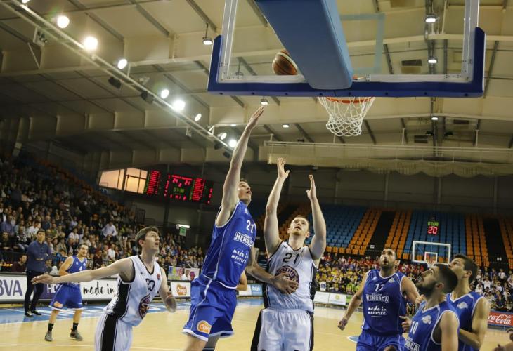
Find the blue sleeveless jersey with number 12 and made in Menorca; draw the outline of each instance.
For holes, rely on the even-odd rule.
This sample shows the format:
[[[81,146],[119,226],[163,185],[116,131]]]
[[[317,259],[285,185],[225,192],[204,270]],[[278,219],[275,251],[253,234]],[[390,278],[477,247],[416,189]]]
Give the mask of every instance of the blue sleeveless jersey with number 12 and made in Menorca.
[[[402,334],[406,315],[406,299],[401,292],[404,274],[395,272],[382,277],[379,270],[370,270],[363,286],[363,326],[362,329],[382,336]]]

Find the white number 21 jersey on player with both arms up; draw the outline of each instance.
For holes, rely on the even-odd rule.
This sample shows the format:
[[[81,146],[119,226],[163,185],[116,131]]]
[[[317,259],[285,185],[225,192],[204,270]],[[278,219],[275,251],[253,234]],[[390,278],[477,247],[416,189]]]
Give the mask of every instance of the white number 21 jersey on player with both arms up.
[[[308,246],[294,250],[286,241],[282,241],[276,252],[267,260],[266,270],[274,276],[286,273],[289,279],[297,282],[299,286],[294,293],[288,295],[280,293],[274,286],[266,284],[264,289],[265,307],[276,310],[313,312],[317,268]]]

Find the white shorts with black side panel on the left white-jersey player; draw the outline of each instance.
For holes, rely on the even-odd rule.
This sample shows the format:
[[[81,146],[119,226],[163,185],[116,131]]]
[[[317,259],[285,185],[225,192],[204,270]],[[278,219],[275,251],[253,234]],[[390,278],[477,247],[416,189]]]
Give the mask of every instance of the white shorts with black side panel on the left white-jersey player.
[[[96,326],[96,351],[128,351],[132,344],[132,326],[117,317],[103,313]]]

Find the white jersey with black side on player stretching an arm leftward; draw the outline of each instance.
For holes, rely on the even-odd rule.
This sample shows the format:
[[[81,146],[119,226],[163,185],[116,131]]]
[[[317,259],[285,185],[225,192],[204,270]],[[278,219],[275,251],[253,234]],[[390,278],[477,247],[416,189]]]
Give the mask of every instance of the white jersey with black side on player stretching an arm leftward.
[[[123,282],[117,277],[117,293],[103,309],[106,314],[115,315],[117,319],[137,326],[143,320],[150,302],[155,298],[162,282],[160,265],[153,262],[153,271],[148,269],[139,256],[129,257],[134,264],[135,274],[131,282]]]

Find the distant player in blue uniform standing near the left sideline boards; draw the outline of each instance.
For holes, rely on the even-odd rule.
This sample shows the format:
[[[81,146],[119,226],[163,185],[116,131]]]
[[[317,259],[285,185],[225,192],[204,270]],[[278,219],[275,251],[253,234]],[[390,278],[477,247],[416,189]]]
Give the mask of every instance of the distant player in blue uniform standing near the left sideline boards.
[[[76,272],[82,272],[87,269],[87,251],[89,246],[82,244],[79,246],[77,256],[69,256],[64,261],[63,265],[60,266],[59,275],[67,275]],[[57,319],[59,311],[65,307],[70,310],[74,310],[73,316],[73,327],[71,329],[70,337],[75,340],[82,340],[82,336],[77,330],[80,316],[82,315],[82,293],[80,292],[79,283],[63,283],[57,288],[55,296],[51,300],[50,307],[53,311],[50,314],[50,320],[48,321],[48,331],[44,336],[44,340],[51,341],[53,324]]]

